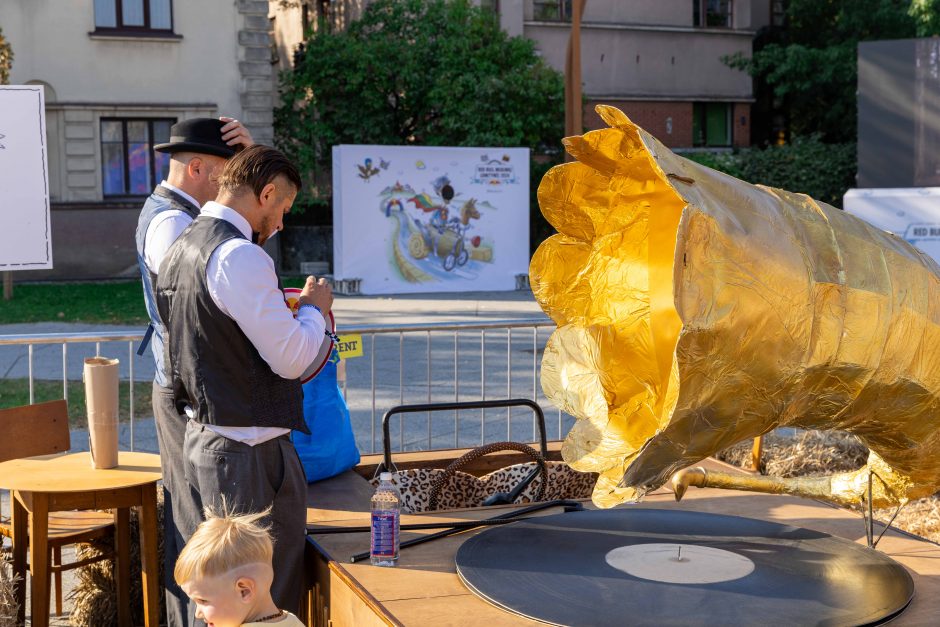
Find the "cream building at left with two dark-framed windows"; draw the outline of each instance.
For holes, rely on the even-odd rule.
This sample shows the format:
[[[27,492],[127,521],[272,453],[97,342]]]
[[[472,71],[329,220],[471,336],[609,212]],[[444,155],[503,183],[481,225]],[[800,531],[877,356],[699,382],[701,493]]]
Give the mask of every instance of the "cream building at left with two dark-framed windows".
[[[228,115],[272,143],[266,0],[4,0],[0,27],[10,82],[46,100],[55,268],[17,280],[135,276],[137,216],[169,163],[152,147],[177,120]]]

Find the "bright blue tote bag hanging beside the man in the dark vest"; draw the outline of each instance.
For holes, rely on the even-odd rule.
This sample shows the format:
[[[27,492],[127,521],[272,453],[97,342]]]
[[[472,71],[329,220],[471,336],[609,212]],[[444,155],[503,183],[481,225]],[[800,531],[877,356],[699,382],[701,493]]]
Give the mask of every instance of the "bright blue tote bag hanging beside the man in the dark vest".
[[[303,384],[304,421],[310,435],[294,431],[291,439],[308,483],[338,475],[359,463],[349,407],[336,383],[338,363],[339,353],[333,349],[319,374]]]

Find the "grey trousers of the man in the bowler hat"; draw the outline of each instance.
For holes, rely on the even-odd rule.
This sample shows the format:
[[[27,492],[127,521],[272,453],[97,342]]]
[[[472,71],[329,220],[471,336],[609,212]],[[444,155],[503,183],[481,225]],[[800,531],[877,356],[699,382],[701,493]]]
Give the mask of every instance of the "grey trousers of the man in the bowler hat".
[[[173,568],[186,539],[183,529],[195,529],[202,522],[199,495],[186,480],[183,468],[183,436],[186,416],[176,412],[169,388],[153,384],[153,415],[160,446],[163,471],[163,585],[166,588],[166,619],[169,627],[191,627],[196,606],[173,579]]]

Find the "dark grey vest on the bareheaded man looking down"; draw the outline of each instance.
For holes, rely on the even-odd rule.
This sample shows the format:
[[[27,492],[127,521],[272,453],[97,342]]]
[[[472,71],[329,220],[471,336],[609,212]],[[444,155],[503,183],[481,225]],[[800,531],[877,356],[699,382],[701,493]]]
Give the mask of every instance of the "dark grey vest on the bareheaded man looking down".
[[[200,216],[160,266],[155,296],[160,318],[167,321],[167,374],[177,409],[183,413],[185,405],[192,406],[195,420],[204,424],[310,433],[300,381],[271,370],[209,293],[209,258],[236,237],[244,239],[230,222]]]

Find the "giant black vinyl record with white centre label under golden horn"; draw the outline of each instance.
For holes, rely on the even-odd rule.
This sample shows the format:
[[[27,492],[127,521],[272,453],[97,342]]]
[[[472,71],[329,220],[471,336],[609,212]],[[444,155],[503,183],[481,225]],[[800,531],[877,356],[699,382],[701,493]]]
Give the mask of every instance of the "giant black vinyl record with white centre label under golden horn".
[[[487,529],[461,545],[457,573],[553,625],[874,625],[914,595],[900,564],[843,538],[642,507]]]

